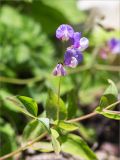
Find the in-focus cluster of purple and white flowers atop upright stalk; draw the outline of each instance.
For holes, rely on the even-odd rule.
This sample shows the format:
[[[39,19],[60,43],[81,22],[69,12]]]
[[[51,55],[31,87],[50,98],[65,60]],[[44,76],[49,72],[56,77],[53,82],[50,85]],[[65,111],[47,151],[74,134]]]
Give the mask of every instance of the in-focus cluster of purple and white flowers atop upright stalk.
[[[58,27],[56,37],[62,41],[69,41],[71,44],[66,49],[64,63],[57,64],[53,70],[53,75],[64,76],[66,75],[64,66],[75,68],[83,60],[82,51],[88,47],[89,41],[87,38],[82,37],[80,32],[74,32],[73,28],[67,24]]]

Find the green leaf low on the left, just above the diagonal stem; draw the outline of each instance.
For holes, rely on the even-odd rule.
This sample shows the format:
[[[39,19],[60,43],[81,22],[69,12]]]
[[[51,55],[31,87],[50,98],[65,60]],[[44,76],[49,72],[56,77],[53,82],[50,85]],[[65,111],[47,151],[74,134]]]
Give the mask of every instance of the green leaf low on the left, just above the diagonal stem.
[[[28,141],[36,138],[45,132],[45,128],[42,123],[37,120],[29,122],[23,131],[23,140]]]

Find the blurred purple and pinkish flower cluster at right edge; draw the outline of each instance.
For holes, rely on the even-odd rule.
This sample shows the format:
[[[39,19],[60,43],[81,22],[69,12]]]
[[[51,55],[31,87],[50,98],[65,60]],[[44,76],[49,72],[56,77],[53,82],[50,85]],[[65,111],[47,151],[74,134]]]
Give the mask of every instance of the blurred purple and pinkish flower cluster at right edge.
[[[103,59],[107,59],[109,54],[120,54],[120,40],[112,38],[110,39],[104,48],[100,51],[100,56]]]

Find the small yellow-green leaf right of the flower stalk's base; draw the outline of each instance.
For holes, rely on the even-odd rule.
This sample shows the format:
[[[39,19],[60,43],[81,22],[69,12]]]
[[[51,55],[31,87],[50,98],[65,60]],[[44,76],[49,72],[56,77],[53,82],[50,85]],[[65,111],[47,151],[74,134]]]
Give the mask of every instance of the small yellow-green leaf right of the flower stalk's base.
[[[66,130],[66,131],[74,131],[74,130],[78,129],[77,125],[75,125],[73,123],[69,123],[69,122],[64,122],[64,121],[59,122],[59,127],[61,129]]]

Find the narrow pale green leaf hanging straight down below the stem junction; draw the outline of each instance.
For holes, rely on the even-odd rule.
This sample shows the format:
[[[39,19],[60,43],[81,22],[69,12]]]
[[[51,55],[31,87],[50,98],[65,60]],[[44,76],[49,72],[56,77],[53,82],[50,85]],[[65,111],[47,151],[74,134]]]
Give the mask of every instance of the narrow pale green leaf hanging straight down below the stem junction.
[[[55,129],[51,129],[52,146],[55,153],[59,153],[61,150],[60,143],[58,141],[59,134]]]

